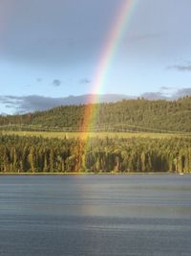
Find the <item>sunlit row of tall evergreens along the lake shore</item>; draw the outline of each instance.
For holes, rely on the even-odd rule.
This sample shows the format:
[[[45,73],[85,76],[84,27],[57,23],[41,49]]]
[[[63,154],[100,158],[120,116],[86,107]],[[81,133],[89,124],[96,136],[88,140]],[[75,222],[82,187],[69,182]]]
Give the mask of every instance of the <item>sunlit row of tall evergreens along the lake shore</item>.
[[[190,138],[48,139],[0,134],[1,173],[191,173]]]

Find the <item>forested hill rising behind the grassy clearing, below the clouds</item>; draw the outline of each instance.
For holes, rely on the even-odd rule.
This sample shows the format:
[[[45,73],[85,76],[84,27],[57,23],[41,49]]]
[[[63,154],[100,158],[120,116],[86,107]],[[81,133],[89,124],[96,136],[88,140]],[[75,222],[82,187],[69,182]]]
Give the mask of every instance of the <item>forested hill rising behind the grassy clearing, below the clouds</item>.
[[[43,127],[79,128],[86,105],[67,105],[25,115],[1,116],[0,125],[26,124]],[[191,97],[177,101],[123,100],[95,105],[96,126],[154,128],[191,131]],[[152,129],[151,129],[152,130]]]

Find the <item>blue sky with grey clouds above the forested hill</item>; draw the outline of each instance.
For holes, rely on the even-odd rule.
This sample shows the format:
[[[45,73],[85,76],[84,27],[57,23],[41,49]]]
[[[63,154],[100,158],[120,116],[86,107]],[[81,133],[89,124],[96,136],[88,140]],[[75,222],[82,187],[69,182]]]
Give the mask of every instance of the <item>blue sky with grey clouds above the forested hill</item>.
[[[131,0],[120,38],[113,38],[115,51],[102,67],[104,79],[95,85],[128,1],[0,0],[0,113],[30,110],[30,99],[37,107],[36,99],[47,99],[48,107],[93,92],[191,94],[190,0]]]

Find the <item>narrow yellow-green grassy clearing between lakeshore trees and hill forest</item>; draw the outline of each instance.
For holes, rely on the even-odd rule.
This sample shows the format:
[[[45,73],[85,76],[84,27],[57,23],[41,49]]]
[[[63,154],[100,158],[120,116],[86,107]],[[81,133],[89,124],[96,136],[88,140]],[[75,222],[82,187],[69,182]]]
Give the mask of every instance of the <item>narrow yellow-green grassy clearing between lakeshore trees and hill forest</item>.
[[[60,132],[60,131],[1,131],[3,135],[18,135],[18,136],[42,136],[44,138],[83,138],[98,137],[98,138],[169,138],[169,137],[185,137],[182,134],[171,133],[149,133],[149,132]]]

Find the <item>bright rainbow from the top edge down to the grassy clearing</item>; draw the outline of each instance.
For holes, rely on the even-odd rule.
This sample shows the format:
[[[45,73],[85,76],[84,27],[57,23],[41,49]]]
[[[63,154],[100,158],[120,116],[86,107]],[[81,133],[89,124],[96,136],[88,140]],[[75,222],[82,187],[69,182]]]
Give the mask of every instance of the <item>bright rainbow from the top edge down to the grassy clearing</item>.
[[[98,97],[97,94],[100,94],[101,90],[103,89],[110,66],[113,62],[113,58],[116,56],[121,39],[128,28],[128,24],[130,23],[132,14],[137,4],[138,0],[124,0],[119,12],[117,12],[116,21],[111,32],[109,33],[107,43],[103,48],[97,65],[96,76],[93,80],[94,82],[91,90],[92,94],[88,101],[92,104],[86,105],[85,107],[82,130],[87,130],[88,132],[88,130],[90,130],[90,128],[96,124],[97,108],[94,103],[96,103]],[[82,137],[86,137],[86,134],[83,134]]]

